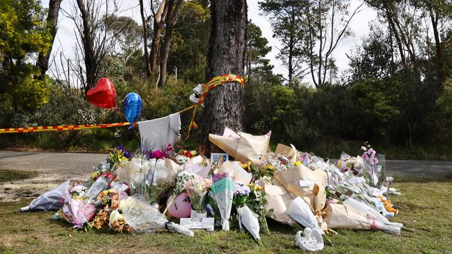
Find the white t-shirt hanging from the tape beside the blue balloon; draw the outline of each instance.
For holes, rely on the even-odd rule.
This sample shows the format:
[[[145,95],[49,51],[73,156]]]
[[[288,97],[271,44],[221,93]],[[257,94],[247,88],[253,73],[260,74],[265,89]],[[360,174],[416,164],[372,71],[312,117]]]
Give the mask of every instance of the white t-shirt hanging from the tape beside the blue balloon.
[[[147,151],[166,149],[168,144],[175,144],[181,130],[181,117],[174,113],[168,117],[139,121],[141,144]]]

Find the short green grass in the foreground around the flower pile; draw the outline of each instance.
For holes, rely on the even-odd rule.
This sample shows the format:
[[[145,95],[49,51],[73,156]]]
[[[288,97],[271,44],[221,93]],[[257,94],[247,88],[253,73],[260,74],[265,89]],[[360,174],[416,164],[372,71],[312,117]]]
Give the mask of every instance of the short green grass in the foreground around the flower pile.
[[[403,196],[393,203],[403,208],[394,221],[415,232],[401,235],[365,230],[337,230],[334,246],[323,253],[452,253],[452,203],[449,180],[418,178],[394,183]],[[300,253],[295,246],[296,230],[270,223],[272,235],[261,234],[258,246],[246,232],[197,231],[195,237],[170,232],[132,235],[92,230],[80,232],[67,223],[51,221],[52,212],[19,213],[29,200],[0,203],[0,253]],[[270,220],[269,220],[270,221]]]

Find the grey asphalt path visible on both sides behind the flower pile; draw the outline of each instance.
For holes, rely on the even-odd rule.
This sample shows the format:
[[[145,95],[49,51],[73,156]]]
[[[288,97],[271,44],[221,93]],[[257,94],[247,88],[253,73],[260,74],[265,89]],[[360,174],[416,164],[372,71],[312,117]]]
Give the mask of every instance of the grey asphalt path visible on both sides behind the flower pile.
[[[105,160],[102,153],[42,153],[0,151],[0,169],[32,170],[47,173],[90,173]],[[452,161],[388,160],[389,173],[419,176],[452,173]]]

